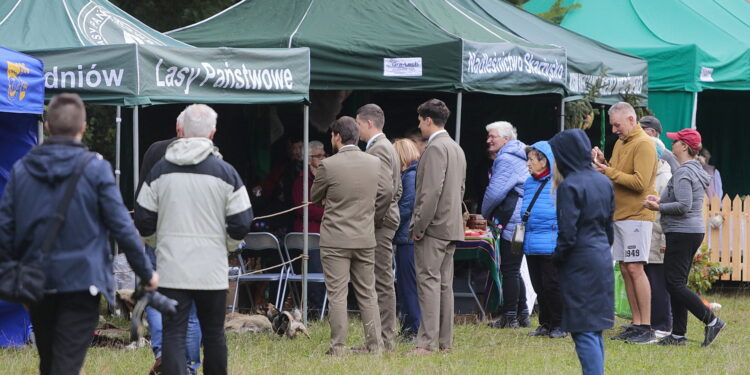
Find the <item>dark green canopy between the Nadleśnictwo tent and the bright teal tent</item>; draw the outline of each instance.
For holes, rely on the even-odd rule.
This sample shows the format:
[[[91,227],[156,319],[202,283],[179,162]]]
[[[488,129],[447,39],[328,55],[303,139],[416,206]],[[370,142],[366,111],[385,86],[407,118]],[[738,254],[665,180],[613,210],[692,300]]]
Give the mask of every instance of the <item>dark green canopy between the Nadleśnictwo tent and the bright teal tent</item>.
[[[648,78],[644,59],[564,29],[505,1],[444,1],[466,8],[472,14],[531,42],[565,47],[569,70],[567,88],[570,94],[585,93],[590,84],[604,75],[597,102],[614,104],[621,100],[621,94],[631,93],[646,103]]]

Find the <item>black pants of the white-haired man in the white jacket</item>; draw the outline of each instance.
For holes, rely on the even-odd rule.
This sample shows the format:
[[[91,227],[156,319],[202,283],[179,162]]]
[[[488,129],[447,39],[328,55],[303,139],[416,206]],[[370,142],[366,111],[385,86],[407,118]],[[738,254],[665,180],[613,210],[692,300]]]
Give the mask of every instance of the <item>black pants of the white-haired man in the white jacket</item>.
[[[165,296],[177,300],[177,314],[162,315],[161,368],[164,374],[187,374],[185,337],[187,321],[195,301],[198,321],[203,335],[203,373],[226,375],[227,340],[224,336],[224,313],[226,312],[226,290],[186,290],[159,288]]]

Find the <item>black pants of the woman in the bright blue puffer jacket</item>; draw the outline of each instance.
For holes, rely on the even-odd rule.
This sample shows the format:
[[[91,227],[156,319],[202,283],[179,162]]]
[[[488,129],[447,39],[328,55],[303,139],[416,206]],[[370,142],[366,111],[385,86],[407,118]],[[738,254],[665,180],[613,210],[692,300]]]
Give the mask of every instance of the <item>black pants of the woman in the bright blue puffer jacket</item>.
[[[563,302],[552,256],[527,255],[526,263],[539,301],[539,324],[549,329],[560,327]]]

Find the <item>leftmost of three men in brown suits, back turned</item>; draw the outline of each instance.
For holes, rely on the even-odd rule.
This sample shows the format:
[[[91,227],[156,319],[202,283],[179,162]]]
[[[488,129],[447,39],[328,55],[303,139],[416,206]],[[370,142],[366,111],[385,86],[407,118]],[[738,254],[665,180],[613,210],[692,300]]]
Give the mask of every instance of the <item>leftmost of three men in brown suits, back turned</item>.
[[[375,197],[380,160],[357,147],[359,128],[344,116],[331,126],[336,155],[320,162],[310,200],[325,206],[320,226],[320,256],[330,308],[331,347],[345,354],[349,321],[346,297],[351,277],[365,328],[365,349],[379,353],[380,316],[375,294]]]

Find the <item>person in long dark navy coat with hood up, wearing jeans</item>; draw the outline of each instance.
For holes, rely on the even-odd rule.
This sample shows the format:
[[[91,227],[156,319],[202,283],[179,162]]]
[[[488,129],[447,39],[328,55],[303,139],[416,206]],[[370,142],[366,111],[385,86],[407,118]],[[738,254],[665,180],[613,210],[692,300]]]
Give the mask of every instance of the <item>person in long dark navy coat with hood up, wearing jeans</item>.
[[[566,130],[549,143],[556,168],[559,230],[552,257],[563,298],[562,329],[573,336],[583,374],[603,374],[602,331],[615,317],[612,183],[591,166],[591,143],[582,130]]]

